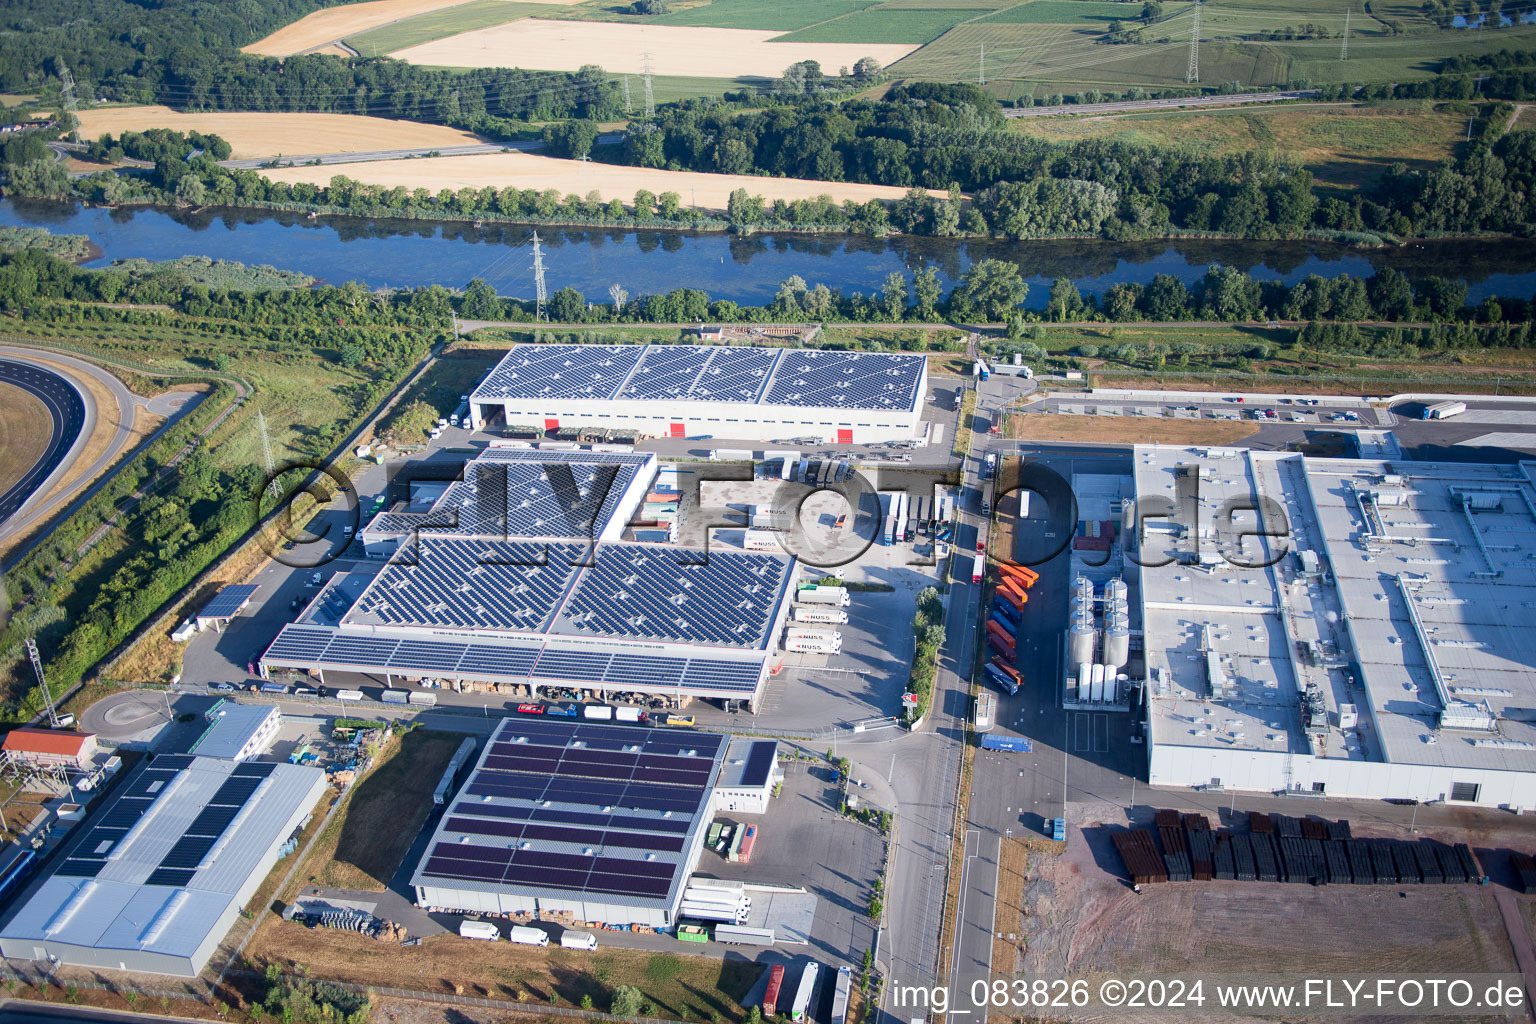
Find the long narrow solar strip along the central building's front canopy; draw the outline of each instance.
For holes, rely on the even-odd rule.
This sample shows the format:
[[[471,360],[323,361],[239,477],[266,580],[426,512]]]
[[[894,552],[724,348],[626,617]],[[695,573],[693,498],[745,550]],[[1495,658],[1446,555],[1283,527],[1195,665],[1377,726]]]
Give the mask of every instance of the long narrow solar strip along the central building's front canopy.
[[[316,666],[496,682],[541,679],[608,685],[614,689],[628,685],[699,694],[750,694],[757,688],[763,671],[762,657],[750,660],[656,657],[571,651],[541,642],[513,645],[358,637],[292,623],[283,626],[261,660],[278,668]]]

